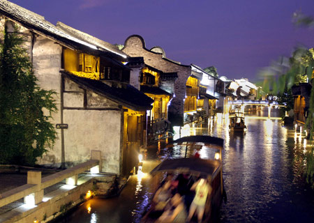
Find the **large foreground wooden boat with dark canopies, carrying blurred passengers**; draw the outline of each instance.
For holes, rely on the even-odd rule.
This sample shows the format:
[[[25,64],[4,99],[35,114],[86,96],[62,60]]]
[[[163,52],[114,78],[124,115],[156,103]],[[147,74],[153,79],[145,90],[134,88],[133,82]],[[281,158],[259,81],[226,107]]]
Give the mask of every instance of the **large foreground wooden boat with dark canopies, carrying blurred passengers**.
[[[153,181],[152,185],[157,186],[154,188],[155,192],[158,189],[158,186],[160,188],[162,182],[165,182],[167,174],[172,174],[172,176],[189,176],[189,180],[192,180],[192,184],[193,180],[194,182],[197,181],[197,178],[207,178],[211,185],[212,191],[211,196],[207,197],[202,222],[211,222],[212,220],[218,219],[220,205],[222,203],[223,196],[225,195],[223,190],[223,162],[221,157],[223,139],[209,136],[190,136],[177,139],[173,141],[172,144],[186,146],[186,154],[188,148],[199,148],[200,145],[206,146],[206,148],[202,149],[214,149],[214,152],[216,153],[213,153],[215,155],[212,159],[186,157],[185,154],[184,158],[164,160],[158,164],[158,166],[155,167],[150,173]],[[190,191],[190,188],[188,188],[188,191]],[[188,194],[181,195],[184,195],[185,199],[188,197]],[[158,219],[156,216],[151,216],[151,212],[154,211],[154,202],[152,201],[153,197],[154,195],[151,197],[150,206],[143,214],[141,222],[156,222]],[[194,194],[192,200],[193,198]],[[194,217],[192,222],[197,222],[197,217]]]

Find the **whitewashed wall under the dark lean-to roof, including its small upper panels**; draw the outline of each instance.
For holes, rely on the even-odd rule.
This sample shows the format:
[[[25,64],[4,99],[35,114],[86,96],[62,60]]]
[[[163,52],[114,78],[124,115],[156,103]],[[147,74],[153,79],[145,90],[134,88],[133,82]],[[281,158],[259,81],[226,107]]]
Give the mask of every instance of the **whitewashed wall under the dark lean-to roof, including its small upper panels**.
[[[68,124],[68,129],[63,130],[65,161],[75,164],[90,159],[91,151],[101,151],[102,170],[120,174],[122,136],[119,105],[86,90],[87,105],[84,108],[84,90],[67,78],[64,79],[64,90],[63,123]]]

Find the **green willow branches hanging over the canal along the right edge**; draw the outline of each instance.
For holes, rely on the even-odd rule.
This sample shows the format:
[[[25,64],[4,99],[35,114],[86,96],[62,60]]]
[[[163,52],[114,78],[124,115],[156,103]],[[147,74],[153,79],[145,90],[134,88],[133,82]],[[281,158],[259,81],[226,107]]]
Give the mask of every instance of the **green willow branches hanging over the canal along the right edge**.
[[[272,95],[285,95],[294,84],[308,82],[313,86],[314,49],[298,47],[290,58],[281,58],[272,66],[260,72],[263,77],[262,89]],[[310,107],[306,118],[306,128],[310,138],[314,136],[314,87],[311,89]],[[306,153],[306,180],[314,187],[314,147]]]

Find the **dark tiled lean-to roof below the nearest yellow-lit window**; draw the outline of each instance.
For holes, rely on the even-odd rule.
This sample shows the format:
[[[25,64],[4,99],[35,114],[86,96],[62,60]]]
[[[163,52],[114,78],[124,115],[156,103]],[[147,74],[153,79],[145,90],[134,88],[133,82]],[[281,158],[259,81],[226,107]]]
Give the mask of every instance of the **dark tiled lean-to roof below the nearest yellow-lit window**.
[[[87,88],[99,95],[103,95],[106,98],[116,102],[119,105],[123,105],[134,111],[146,111],[152,109],[151,104],[154,102],[151,98],[144,93],[138,91],[130,84],[124,84],[123,87],[110,87],[107,84],[94,79],[88,79],[84,77],[77,77],[70,72],[62,71],[63,77],[71,79],[73,82],[80,86]]]

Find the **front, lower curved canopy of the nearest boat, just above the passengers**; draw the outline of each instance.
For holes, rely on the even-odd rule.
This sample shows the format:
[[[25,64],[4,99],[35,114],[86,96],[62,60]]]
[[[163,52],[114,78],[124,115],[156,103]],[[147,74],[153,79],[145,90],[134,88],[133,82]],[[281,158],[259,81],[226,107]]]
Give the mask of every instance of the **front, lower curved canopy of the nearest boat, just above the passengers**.
[[[203,160],[200,158],[179,158],[175,160],[164,160],[151,171],[151,175],[158,172],[168,173],[179,171],[181,174],[214,176],[215,172],[220,167],[221,162],[218,160]]]

